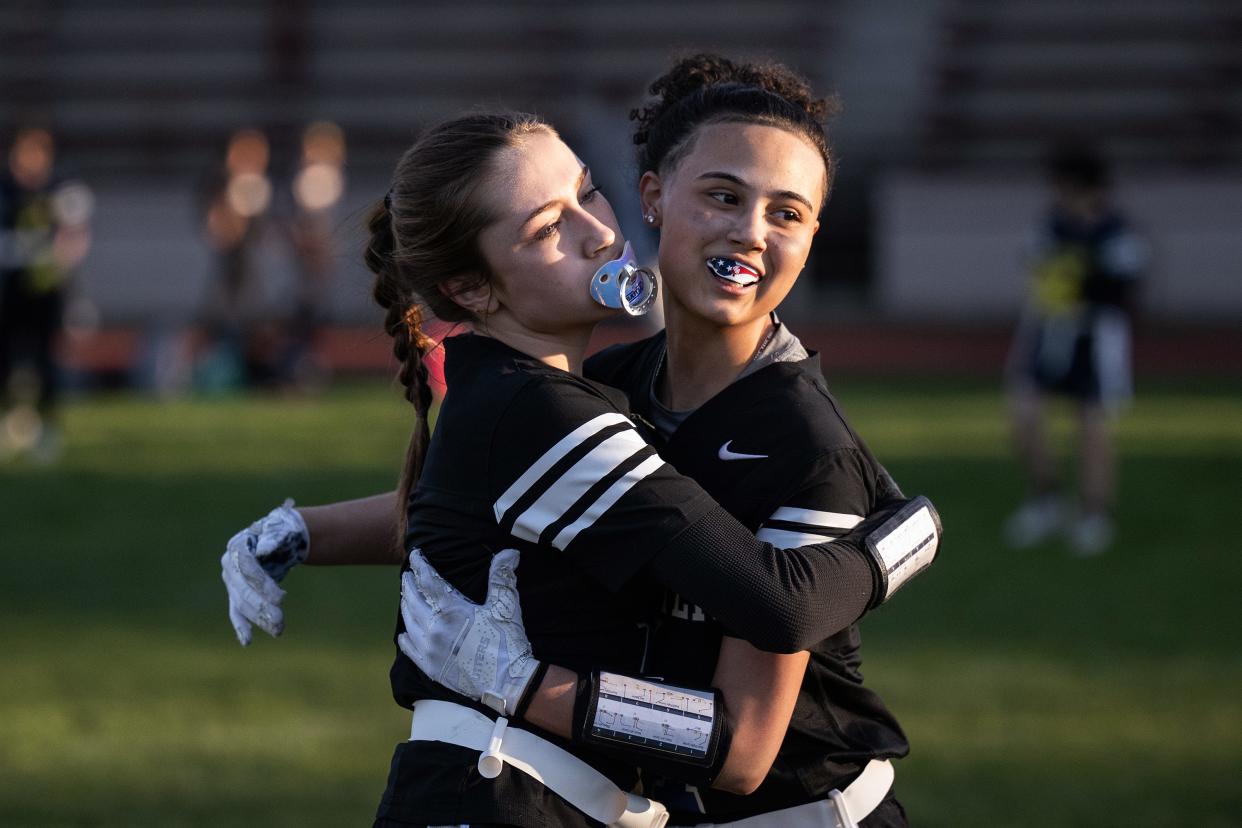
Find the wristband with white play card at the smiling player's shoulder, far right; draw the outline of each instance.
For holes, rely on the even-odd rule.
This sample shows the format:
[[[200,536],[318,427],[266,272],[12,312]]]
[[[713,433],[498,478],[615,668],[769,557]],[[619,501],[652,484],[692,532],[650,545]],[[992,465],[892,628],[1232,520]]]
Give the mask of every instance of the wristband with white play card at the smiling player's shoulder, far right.
[[[864,531],[863,547],[872,557],[879,581],[872,606],[888,601],[907,581],[932,566],[943,531],[939,513],[923,495],[878,525],[858,529]]]

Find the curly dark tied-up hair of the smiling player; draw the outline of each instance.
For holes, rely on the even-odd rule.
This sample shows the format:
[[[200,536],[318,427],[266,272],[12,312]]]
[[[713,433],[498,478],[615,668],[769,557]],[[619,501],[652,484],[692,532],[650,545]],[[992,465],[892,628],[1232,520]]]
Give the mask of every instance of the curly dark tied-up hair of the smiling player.
[[[776,62],[739,63],[720,55],[684,57],[656,78],[653,97],[632,109],[638,174],[667,171],[691,150],[699,127],[754,123],[801,135],[823,158],[825,200],[836,173],[836,155],[825,122],[840,110],[836,97],[818,98],[810,83]]]

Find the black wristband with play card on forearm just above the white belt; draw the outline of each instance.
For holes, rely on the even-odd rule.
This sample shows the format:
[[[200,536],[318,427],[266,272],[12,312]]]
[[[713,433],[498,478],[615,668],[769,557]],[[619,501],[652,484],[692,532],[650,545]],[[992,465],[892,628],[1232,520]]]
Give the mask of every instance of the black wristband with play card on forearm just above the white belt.
[[[645,770],[707,786],[729,754],[733,730],[715,688],[592,672],[579,677],[574,741]]]

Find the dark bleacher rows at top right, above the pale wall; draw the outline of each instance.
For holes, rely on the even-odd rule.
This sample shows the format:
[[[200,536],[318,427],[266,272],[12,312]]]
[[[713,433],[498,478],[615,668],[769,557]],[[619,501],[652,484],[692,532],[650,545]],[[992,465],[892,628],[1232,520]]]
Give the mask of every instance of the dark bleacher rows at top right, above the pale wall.
[[[1242,161],[1236,0],[954,0],[939,43],[929,164],[1028,163],[1061,137],[1123,164]]]

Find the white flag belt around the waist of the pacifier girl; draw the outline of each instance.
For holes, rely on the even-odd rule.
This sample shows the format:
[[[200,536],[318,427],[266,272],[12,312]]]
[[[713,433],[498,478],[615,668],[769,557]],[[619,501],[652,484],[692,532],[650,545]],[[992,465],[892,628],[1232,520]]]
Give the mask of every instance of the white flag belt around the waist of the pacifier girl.
[[[435,741],[479,751],[478,772],[489,780],[508,765],[542,782],[591,819],[616,828],[663,828],[668,811],[652,799],[626,793],[609,777],[569,751],[528,730],[509,727],[478,710],[452,701],[416,701],[410,741]]]

